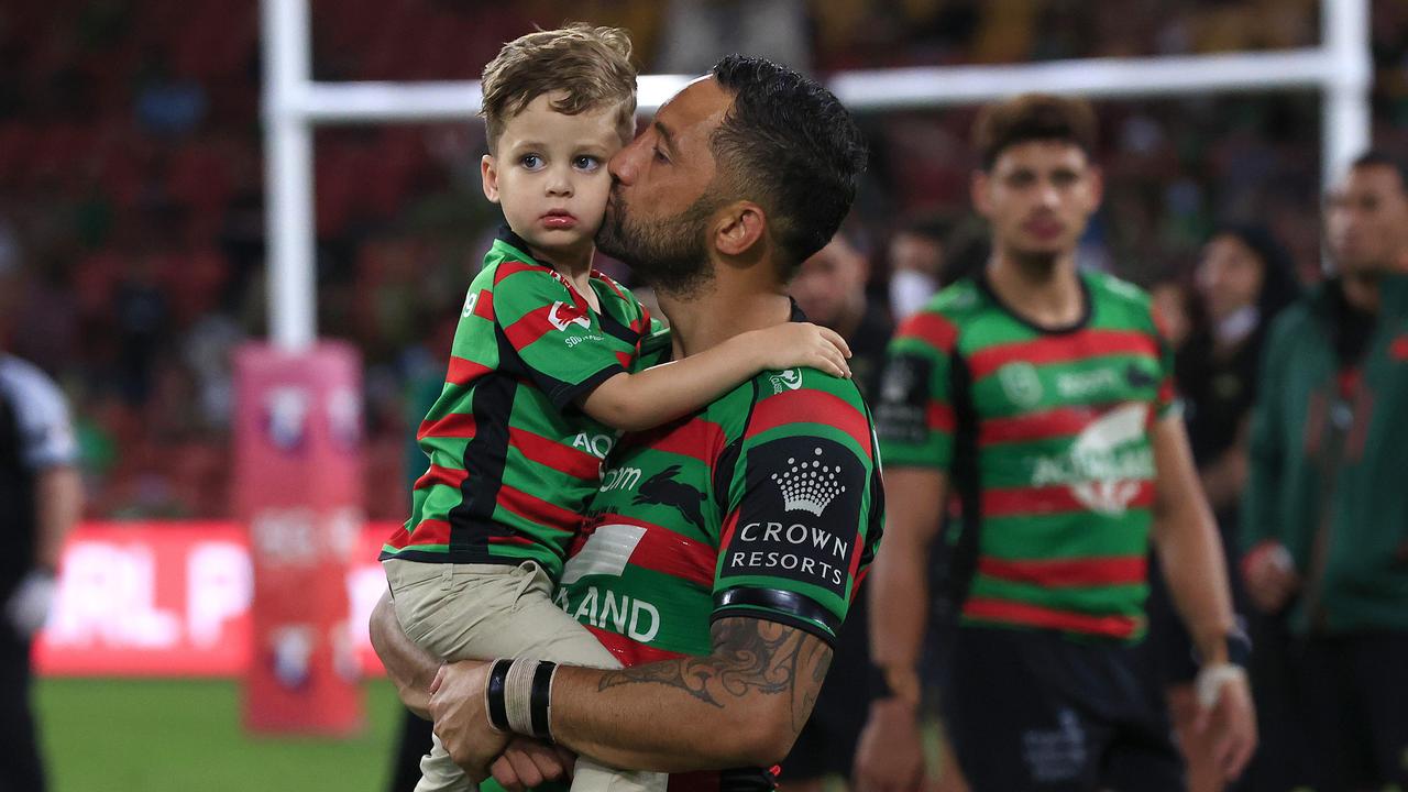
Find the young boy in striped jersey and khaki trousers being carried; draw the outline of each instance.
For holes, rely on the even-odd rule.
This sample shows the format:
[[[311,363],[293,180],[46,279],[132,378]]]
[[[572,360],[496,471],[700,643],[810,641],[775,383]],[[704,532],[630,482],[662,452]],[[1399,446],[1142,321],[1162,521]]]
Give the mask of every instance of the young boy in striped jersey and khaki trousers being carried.
[[[620,662],[552,602],[617,430],[650,428],[760,371],[848,376],[845,342],[790,323],[638,371],[669,345],[649,313],[591,269],[607,161],[635,131],[631,44],[569,25],[510,42],[484,68],[484,194],[507,228],[470,283],[445,390],[421,424],[429,469],[382,550],[397,619],[446,661],[531,655]],[[418,791],[469,789],[436,740]],[[573,789],[663,789],[659,774],[583,760]]]

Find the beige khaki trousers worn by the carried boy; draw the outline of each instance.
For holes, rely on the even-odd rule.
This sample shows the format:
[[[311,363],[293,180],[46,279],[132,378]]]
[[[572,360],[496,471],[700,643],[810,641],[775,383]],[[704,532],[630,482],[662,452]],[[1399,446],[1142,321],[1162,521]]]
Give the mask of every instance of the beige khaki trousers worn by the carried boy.
[[[406,637],[446,661],[531,657],[591,668],[621,662],[552,602],[553,583],[532,561],[422,564],[383,561],[391,605]],[[573,792],[663,792],[665,774],[625,772],[577,760]],[[421,758],[415,792],[463,792],[474,785],[435,737]]]

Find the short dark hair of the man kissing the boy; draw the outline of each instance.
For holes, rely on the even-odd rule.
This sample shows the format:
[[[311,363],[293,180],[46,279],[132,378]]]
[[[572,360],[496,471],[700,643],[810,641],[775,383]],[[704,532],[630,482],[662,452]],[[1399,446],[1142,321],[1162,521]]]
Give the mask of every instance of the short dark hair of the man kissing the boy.
[[[790,276],[850,211],[865,140],[829,90],[786,66],[728,55],[712,75],[734,97],[714,132],[714,158],[731,187],[756,196],[767,211]]]

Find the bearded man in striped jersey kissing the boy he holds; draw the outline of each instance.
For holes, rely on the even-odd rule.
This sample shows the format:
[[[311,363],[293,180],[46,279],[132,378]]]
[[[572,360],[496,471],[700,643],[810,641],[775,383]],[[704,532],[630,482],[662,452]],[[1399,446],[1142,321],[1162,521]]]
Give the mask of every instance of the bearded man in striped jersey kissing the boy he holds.
[[[839,227],[863,162],[834,96],[729,56],[611,161],[597,242],[655,286],[674,354],[696,354],[796,318],[786,282]],[[763,768],[810,716],[879,541],[874,451],[855,385],[811,369],[621,438],[559,602],[629,668],[448,665],[428,709],[451,755],[482,778],[508,740],[497,724],[611,767],[714,771],[672,789],[770,788]],[[435,661],[407,651],[387,612],[373,638],[414,706]],[[543,778],[522,754],[494,768]]]

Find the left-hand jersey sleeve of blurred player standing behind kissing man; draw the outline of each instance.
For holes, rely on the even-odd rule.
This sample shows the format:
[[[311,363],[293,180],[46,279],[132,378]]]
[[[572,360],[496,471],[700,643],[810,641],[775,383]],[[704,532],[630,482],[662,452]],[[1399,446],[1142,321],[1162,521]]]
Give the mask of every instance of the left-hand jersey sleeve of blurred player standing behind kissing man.
[[[890,466],[948,471],[953,458],[950,369],[957,330],[942,314],[907,320],[886,349],[876,406],[880,450]]]

